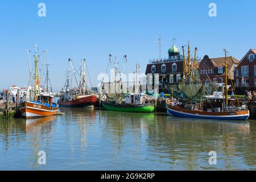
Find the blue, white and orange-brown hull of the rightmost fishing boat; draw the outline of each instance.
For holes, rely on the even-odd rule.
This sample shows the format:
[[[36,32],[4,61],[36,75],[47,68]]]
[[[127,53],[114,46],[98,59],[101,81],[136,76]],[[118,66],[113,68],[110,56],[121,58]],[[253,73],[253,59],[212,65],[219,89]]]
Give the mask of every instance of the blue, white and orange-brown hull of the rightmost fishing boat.
[[[249,118],[249,110],[206,112],[181,109],[176,106],[167,105],[167,114],[181,118],[218,119],[218,120],[246,120]]]

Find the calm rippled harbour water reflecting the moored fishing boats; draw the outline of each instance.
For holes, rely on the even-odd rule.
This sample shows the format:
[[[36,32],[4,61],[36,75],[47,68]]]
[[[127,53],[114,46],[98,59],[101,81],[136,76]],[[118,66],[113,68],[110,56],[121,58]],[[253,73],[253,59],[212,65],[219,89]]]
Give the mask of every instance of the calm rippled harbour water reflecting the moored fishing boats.
[[[225,122],[60,109],[65,115],[0,120],[1,170],[256,169],[256,121]],[[38,152],[46,152],[46,165]],[[217,164],[209,164],[216,151]]]

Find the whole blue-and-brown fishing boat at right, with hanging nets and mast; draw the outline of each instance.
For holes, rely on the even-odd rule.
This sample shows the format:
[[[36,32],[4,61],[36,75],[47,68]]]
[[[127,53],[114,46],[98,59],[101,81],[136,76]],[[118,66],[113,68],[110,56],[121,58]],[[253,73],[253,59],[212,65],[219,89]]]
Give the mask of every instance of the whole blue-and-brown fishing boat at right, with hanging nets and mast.
[[[246,105],[235,106],[233,99],[228,97],[228,73],[225,50],[225,84],[218,84],[221,92],[213,95],[205,94],[204,84],[200,81],[191,81],[191,72],[188,82],[168,85],[167,88],[175,97],[174,101],[167,100],[167,114],[183,118],[219,119],[219,120],[246,120],[249,110]],[[201,97],[203,96],[203,97]],[[200,101],[200,102],[199,102]],[[203,101],[203,103],[201,102]]]

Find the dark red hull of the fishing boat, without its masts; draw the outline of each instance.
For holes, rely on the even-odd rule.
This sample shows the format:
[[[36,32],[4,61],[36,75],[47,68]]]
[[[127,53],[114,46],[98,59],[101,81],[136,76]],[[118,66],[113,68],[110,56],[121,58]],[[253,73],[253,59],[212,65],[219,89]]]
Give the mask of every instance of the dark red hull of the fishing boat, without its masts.
[[[89,95],[82,98],[77,98],[72,101],[58,101],[60,107],[94,107],[96,105],[97,96]]]

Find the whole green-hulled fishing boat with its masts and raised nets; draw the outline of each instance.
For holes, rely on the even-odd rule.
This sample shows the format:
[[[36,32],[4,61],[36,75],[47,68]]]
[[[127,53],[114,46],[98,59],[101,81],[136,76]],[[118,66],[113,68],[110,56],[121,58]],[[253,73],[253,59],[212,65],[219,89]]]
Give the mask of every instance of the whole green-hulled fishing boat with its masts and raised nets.
[[[127,63],[127,56],[125,55],[125,63]],[[109,57],[110,64],[111,55]],[[136,71],[136,82],[134,82],[131,89],[132,92],[129,92],[129,85],[125,87],[128,90],[125,90],[123,87],[125,82],[122,82],[122,78],[117,81],[117,62],[114,61],[115,65],[115,80],[114,82],[102,83],[102,92],[104,93],[104,100],[102,100],[102,106],[106,110],[112,111],[125,111],[125,112],[135,112],[135,113],[150,113],[155,110],[154,104],[148,100],[148,96],[141,92],[139,89],[139,80],[138,80],[138,70],[139,65],[137,64]]]

